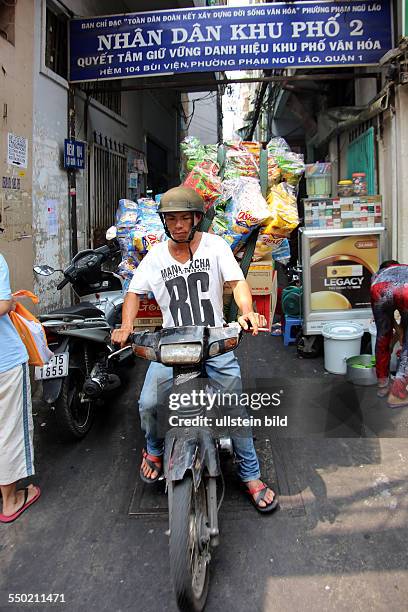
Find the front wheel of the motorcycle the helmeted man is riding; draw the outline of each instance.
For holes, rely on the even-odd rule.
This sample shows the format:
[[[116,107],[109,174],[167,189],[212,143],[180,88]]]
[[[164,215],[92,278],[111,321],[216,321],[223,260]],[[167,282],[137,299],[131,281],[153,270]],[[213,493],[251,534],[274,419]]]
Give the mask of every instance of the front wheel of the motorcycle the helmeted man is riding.
[[[191,476],[174,485],[170,517],[170,574],[181,612],[201,612],[210,577],[208,513],[204,481]]]

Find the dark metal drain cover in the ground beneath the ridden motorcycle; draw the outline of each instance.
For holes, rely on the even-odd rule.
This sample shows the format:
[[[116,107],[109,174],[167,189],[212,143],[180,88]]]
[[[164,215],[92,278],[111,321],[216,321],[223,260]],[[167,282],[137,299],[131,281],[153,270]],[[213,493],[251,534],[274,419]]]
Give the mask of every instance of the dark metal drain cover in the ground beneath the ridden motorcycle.
[[[289,460],[284,458],[279,440],[277,438],[273,441],[260,440],[255,446],[261,464],[262,478],[279,492],[281,510],[288,511],[293,517],[304,516],[306,510],[296,474],[290,468]],[[232,459],[222,456],[221,466],[226,490],[220,514],[226,514],[231,518],[232,515],[236,517],[241,512],[253,512],[253,507],[246,499],[235,475]],[[137,478],[130,501],[129,516],[139,518],[167,516],[167,510],[165,481],[146,485]]]

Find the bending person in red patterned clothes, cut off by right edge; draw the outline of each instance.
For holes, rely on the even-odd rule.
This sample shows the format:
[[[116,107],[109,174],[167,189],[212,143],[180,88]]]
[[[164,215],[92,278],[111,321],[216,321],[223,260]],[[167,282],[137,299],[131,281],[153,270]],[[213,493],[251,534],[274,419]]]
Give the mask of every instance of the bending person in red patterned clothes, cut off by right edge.
[[[377,327],[375,345],[378,395],[388,395],[391,408],[408,406],[408,266],[385,261],[371,283],[371,305]],[[396,325],[394,312],[401,315]],[[402,351],[396,376],[390,383],[390,359],[394,329],[400,336]]]

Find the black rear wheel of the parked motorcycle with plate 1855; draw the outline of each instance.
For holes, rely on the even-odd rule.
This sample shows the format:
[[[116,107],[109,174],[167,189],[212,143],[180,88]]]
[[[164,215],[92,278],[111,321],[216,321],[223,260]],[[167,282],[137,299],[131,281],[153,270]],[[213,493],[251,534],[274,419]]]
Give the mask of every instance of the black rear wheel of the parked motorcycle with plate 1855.
[[[55,402],[58,432],[66,441],[80,440],[92,427],[95,405],[92,400],[83,399],[84,382],[85,376],[80,369],[70,369]]]

